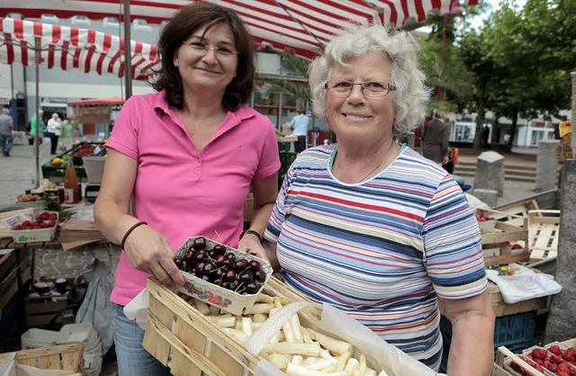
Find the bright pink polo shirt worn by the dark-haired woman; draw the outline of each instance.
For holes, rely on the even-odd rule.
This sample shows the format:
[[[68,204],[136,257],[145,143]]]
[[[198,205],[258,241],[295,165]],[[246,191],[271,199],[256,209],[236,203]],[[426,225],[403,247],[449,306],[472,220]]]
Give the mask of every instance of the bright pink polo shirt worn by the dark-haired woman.
[[[238,246],[250,184],[280,168],[266,116],[246,104],[228,112],[199,153],[165,92],[130,97],[106,146],[138,161],[134,216],[164,234],[174,249],[196,235]],[[147,278],[122,251],[111,300],[126,305]]]

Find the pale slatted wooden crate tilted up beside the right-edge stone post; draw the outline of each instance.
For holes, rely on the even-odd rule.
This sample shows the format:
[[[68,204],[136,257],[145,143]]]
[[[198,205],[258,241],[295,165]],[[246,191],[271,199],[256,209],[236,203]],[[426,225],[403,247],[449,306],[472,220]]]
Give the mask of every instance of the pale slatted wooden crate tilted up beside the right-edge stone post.
[[[557,256],[560,210],[529,210],[527,222],[530,262]]]

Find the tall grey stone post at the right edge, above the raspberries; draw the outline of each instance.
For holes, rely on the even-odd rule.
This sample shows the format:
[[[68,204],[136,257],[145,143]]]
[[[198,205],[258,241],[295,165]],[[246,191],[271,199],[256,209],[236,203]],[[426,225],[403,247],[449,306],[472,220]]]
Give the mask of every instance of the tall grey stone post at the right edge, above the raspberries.
[[[560,204],[558,256],[555,261],[555,280],[562,285],[562,291],[552,297],[546,320],[545,344],[576,337],[576,159],[564,162],[562,179],[565,184]]]

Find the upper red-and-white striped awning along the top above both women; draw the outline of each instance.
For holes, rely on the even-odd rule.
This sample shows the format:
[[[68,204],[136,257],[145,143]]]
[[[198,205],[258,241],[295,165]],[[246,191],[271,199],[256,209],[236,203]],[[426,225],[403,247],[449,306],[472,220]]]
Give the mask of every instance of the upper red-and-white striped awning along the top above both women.
[[[425,22],[430,14],[455,13],[460,6],[482,0],[208,0],[235,10],[247,22],[257,42],[293,49],[311,58],[352,22],[393,25]],[[130,19],[160,23],[190,0],[130,0]],[[21,13],[24,18],[54,14],[61,18],[83,15],[91,19],[115,17],[123,21],[123,0],[2,0],[0,16]]]

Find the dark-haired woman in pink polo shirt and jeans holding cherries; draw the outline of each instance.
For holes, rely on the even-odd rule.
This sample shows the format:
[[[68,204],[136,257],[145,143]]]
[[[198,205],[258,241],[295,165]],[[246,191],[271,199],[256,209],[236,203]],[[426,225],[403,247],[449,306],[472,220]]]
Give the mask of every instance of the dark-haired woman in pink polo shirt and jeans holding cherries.
[[[256,67],[238,15],[205,2],[185,6],[158,48],[157,93],[122,106],[94,206],[96,225],[122,248],[111,297],[121,376],[169,373],[142,348],[143,331],[123,313],[148,276],[184,284],[174,250],[195,235],[261,251],[278,192],[274,126],[246,104]],[[254,214],[243,232],[250,189]]]

